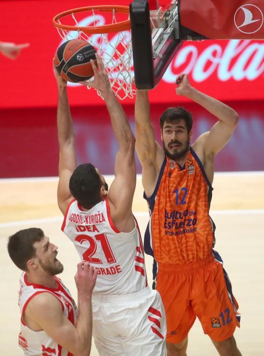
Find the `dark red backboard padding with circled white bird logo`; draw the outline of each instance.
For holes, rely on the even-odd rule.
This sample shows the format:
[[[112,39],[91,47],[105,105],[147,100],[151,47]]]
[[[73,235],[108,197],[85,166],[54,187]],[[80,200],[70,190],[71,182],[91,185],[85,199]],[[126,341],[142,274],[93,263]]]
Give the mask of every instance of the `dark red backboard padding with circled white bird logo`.
[[[181,24],[210,39],[264,39],[263,0],[179,0]]]

